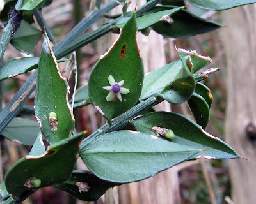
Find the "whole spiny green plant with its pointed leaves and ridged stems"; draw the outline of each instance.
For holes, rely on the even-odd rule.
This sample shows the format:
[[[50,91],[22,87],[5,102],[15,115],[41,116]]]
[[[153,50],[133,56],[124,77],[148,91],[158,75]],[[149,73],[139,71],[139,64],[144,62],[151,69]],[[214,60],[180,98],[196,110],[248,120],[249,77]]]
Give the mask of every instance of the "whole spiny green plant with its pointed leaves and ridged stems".
[[[2,18],[15,2],[6,3]],[[39,187],[53,185],[81,200],[94,201],[109,187],[146,179],[183,161],[201,157],[241,157],[225,142],[204,130],[209,122],[212,95],[199,81],[207,78],[211,70],[198,71],[211,62],[209,57],[177,49],[179,61],[144,75],[136,42],[137,31],[147,33],[148,29],[153,29],[164,36],[186,38],[221,27],[189,13],[183,1],[166,0],[156,6],[159,2],[148,1],[136,12],[127,13],[125,1],[123,15],[82,36],[90,25],[118,5],[113,1],[100,8],[101,1],[97,1],[98,8],[52,48],[49,38],[54,41],[54,37],[40,13],[40,9],[51,1],[17,1],[12,12],[15,16],[23,13],[24,20],[18,22],[19,26],[16,18],[8,20],[1,38],[1,57],[9,41],[18,50],[31,53],[42,31],[47,34],[39,58],[12,59],[0,69],[0,79],[4,80],[37,68],[0,113],[0,131],[4,137],[33,145],[29,155],[13,164],[6,173],[0,185],[2,203],[19,203]],[[243,3],[189,2],[212,10],[254,3],[249,0]],[[33,15],[42,31],[29,24]],[[74,131],[74,117],[67,99],[69,87],[61,76],[58,62],[61,57],[116,29],[120,31],[118,39],[100,57],[88,85],[77,89],[74,99],[74,108],[92,104],[108,120],[108,124],[83,140],[86,132],[76,134]],[[35,85],[35,117],[39,129],[38,123],[14,118]],[[145,112],[163,100],[174,104],[188,102],[196,122],[177,113]],[[142,116],[138,117],[140,114]],[[49,142],[47,150],[43,138]],[[78,156],[90,171],[74,170]]]

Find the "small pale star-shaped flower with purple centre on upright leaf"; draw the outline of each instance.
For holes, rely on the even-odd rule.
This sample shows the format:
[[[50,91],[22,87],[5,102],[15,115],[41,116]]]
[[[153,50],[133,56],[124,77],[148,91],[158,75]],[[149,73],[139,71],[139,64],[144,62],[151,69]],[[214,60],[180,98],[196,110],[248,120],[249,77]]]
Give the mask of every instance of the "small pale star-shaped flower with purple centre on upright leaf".
[[[123,88],[122,85],[124,84],[124,80],[116,83],[115,79],[112,75],[108,76],[109,86],[102,87],[109,91],[108,96],[106,97],[107,101],[111,101],[115,96],[122,102],[121,94],[128,94],[130,92],[129,89]]]

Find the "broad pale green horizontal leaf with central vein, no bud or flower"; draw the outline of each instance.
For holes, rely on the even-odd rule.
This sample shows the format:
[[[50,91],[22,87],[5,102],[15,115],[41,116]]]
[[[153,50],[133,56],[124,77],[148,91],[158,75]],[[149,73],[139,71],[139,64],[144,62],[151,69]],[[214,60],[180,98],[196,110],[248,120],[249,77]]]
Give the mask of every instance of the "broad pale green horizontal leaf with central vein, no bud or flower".
[[[198,152],[147,133],[116,131],[92,140],[80,156],[100,179],[125,183],[156,175]]]

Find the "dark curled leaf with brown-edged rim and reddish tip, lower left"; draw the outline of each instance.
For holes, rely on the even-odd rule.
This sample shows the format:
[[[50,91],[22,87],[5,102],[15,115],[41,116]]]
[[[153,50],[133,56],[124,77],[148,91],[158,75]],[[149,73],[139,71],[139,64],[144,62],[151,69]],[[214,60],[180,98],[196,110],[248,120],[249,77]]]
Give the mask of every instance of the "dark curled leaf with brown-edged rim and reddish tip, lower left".
[[[64,139],[48,147],[41,156],[25,156],[13,164],[5,175],[5,185],[12,198],[19,201],[22,194],[35,191],[29,185],[31,180],[40,179],[40,187],[52,186],[65,182],[76,166],[79,143],[84,132]]]

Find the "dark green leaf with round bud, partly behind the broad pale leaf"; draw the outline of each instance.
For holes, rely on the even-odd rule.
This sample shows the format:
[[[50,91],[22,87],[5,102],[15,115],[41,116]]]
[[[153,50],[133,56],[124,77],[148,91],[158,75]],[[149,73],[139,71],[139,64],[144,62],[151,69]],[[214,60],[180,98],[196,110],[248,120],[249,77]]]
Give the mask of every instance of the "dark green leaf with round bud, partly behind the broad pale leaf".
[[[198,124],[184,115],[170,112],[153,112],[134,119],[133,124],[137,131],[154,134],[152,126],[172,129],[175,138],[172,143],[184,145],[188,148],[204,149],[189,159],[204,157],[207,159],[233,159],[241,158],[227,143],[207,133]]]

